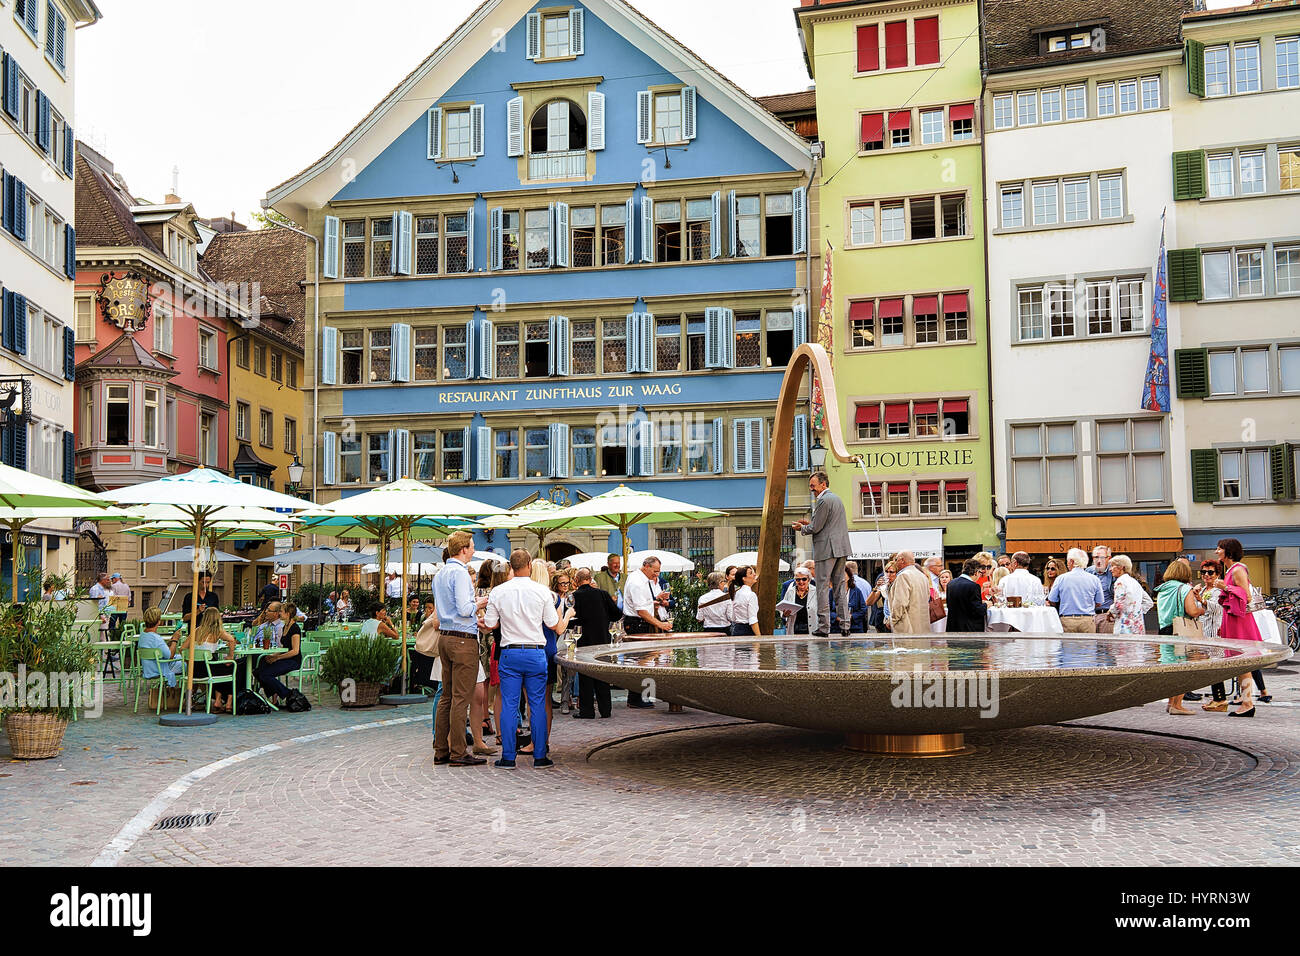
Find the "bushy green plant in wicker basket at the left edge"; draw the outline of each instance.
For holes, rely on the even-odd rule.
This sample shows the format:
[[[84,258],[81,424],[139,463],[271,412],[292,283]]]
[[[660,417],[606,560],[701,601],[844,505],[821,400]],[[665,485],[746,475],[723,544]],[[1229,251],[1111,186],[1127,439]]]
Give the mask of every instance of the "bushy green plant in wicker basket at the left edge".
[[[40,594],[40,568],[26,576],[27,593]],[[68,721],[99,665],[95,649],[73,631],[82,596],[72,593],[65,576],[51,579],[68,600],[0,604],[0,714],[20,760],[58,756]]]

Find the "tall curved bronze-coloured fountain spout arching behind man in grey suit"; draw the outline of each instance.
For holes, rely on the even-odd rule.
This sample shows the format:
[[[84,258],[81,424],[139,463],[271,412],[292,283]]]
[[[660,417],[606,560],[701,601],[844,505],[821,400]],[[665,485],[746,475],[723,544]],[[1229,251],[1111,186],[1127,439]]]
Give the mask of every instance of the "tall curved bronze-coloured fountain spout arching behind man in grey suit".
[[[781,532],[785,527],[785,485],[790,460],[790,433],[794,431],[794,406],[803,385],[803,372],[812,365],[812,373],[822,382],[826,402],[826,436],[829,451],[841,462],[861,460],[849,454],[840,431],[840,398],[835,393],[831,359],[820,345],[805,343],[794,350],[781,378],[781,393],[776,399],[776,423],[772,425],[772,447],[768,453],[767,488],[763,496],[763,524],[758,532],[758,619],[767,622],[766,631],[776,620],[776,585],[780,575]]]

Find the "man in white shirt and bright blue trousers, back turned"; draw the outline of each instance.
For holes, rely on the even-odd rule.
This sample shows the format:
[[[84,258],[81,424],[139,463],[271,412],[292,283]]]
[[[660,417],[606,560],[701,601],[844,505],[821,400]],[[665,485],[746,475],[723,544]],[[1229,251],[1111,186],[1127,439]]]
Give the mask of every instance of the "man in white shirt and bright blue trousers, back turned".
[[[533,766],[555,766],[546,756],[546,635],[542,626],[559,627],[555,596],[532,579],[533,555],[525,550],[510,555],[512,578],[491,589],[484,624],[500,624],[500,739],[502,754],[493,766],[514,769],[515,727],[519,695],[528,695],[528,718],[533,731]]]

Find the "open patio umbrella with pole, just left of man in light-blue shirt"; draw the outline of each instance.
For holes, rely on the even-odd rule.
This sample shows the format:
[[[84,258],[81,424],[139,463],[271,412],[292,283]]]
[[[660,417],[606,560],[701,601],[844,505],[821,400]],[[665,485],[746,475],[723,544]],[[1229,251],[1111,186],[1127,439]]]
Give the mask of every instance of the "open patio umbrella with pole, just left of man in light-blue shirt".
[[[386,485],[380,485],[369,492],[354,494],[347,498],[332,502],[328,506],[316,509],[311,515],[304,516],[303,523],[309,528],[324,529],[322,525],[341,527],[351,520],[358,528],[367,528],[372,537],[380,541],[378,564],[386,564],[385,549],[391,537],[400,535],[402,553],[411,553],[411,532],[413,527],[421,531],[430,531],[437,524],[443,528],[456,528],[468,524],[467,518],[480,518],[484,515],[499,515],[502,509],[484,505],[472,498],[443,492],[433,485],[426,485],[415,479],[399,479]],[[343,519],[339,522],[339,519]],[[334,533],[334,532],[330,532]],[[438,557],[442,554],[439,551]],[[389,695],[385,700],[389,704],[413,704],[422,701],[422,695],[407,695],[407,575],[402,575],[402,693]]]

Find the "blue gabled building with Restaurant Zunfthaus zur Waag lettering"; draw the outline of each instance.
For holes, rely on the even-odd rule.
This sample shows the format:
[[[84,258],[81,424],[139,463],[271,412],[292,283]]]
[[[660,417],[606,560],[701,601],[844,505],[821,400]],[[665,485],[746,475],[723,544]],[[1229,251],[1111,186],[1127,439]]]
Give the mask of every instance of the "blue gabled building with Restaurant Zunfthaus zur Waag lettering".
[[[317,501],[403,475],[500,507],[636,484],[728,516],[634,548],[757,546],[819,274],[811,170],[803,139],[627,4],[485,3],[268,196],[318,239]],[[560,533],[549,557],[606,546]]]

